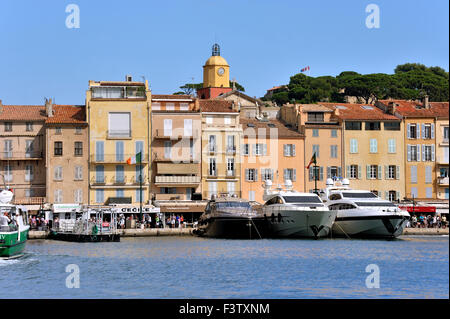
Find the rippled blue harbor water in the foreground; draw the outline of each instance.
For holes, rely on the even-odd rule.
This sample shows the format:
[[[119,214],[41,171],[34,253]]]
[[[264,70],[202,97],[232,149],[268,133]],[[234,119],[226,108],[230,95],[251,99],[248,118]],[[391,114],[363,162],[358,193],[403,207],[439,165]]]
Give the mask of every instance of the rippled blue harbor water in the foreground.
[[[2,298],[449,298],[449,238],[30,240],[0,272]]]

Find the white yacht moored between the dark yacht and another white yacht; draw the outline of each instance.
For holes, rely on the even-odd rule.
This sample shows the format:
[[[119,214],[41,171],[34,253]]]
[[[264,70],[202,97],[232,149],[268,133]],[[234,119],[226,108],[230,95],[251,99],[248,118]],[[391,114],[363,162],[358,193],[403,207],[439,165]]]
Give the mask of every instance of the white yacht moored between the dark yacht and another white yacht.
[[[292,189],[292,182],[286,181],[285,189],[278,186],[272,190],[272,182],[264,182],[262,213],[268,221],[271,237],[325,237],[329,234],[336,218],[317,194],[300,193]]]

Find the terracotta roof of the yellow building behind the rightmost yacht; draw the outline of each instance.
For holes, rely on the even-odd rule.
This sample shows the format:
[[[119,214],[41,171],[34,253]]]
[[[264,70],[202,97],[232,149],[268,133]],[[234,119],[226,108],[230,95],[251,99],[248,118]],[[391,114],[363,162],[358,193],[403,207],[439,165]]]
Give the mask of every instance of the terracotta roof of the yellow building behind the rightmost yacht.
[[[372,109],[364,109],[363,106],[367,104],[353,104],[353,103],[328,103],[321,102],[323,106],[335,110],[336,106],[343,106],[344,108],[338,108],[338,114],[335,116],[341,120],[380,120],[389,121],[395,120],[400,121],[400,119],[394,115],[386,114],[375,105],[370,105]]]

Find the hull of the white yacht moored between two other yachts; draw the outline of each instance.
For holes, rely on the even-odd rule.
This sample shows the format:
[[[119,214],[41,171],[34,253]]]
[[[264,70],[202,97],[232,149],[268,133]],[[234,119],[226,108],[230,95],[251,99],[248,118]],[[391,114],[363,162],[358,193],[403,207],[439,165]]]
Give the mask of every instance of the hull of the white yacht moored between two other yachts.
[[[267,217],[273,238],[319,238],[330,233],[336,212],[284,210]]]

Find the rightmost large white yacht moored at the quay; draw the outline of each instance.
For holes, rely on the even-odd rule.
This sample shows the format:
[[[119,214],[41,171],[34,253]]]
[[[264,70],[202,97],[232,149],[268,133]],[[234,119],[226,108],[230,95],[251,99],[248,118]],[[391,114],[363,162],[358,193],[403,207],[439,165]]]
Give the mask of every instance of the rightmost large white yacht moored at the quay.
[[[326,185],[321,198],[337,212],[332,236],[395,238],[403,233],[410,218],[407,211],[370,191],[351,189],[348,179],[334,182],[329,178]]]

